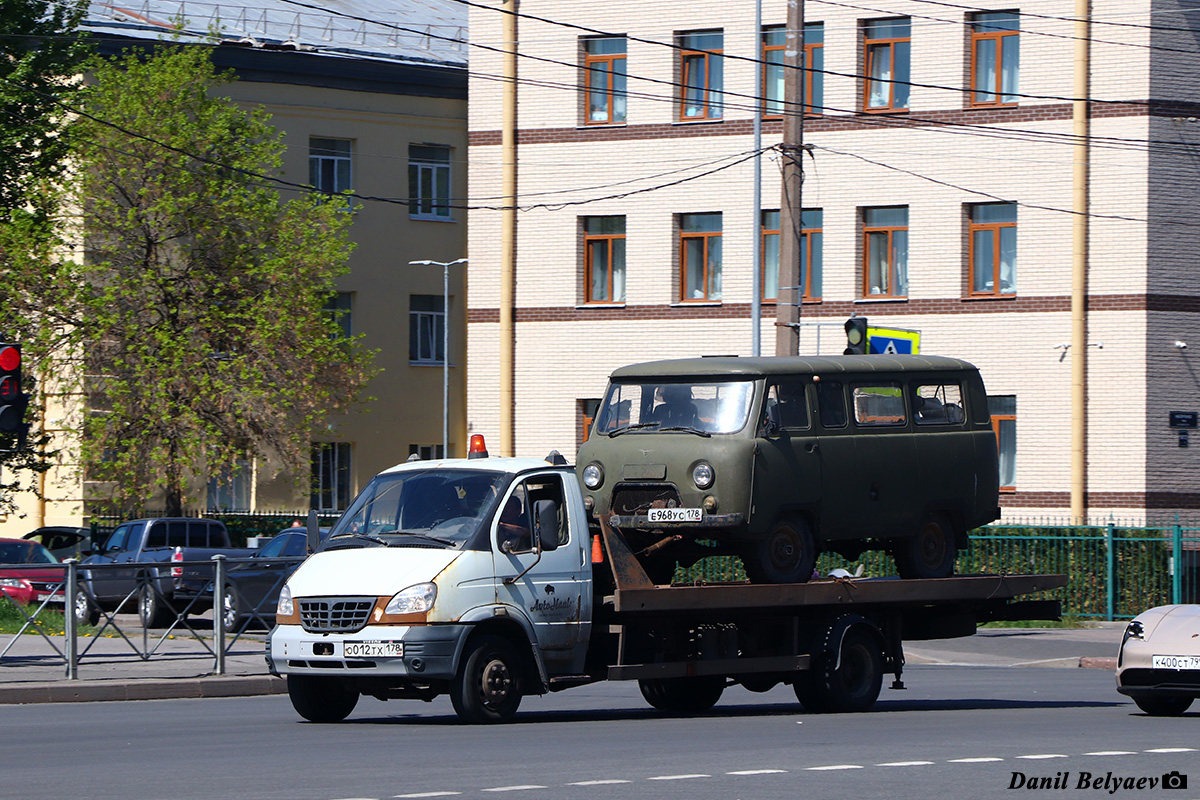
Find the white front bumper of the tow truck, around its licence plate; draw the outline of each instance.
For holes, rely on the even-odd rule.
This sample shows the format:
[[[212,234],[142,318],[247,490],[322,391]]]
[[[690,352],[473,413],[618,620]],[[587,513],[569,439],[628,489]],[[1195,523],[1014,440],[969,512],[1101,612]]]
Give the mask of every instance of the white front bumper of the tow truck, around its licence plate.
[[[308,633],[299,625],[277,625],[268,639],[266,662],[280,675],[449,680],[469,631],[467,625],[371,625],[356,633]],[[358,651],[349,657],[348,644]],[[359,655],[372,649],[400,654]]]

